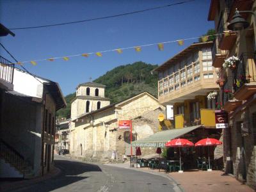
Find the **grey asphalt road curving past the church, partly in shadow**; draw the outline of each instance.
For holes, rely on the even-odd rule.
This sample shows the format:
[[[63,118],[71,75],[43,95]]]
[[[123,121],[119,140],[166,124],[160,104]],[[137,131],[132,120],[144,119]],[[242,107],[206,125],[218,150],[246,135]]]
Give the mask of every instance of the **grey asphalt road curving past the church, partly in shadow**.
[[[104,164],[87,164],[55,156],[60,175],[16,191],[180,191],[171,179],[161,175],[118,168]]]

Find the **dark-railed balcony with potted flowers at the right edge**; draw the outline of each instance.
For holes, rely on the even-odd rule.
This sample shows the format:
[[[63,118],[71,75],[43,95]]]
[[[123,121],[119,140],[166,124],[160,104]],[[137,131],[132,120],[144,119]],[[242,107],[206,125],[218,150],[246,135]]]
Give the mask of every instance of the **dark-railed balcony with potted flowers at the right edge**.
[[[242,54],[237,65],[237,76],[235,79],[243,79],[236,87],[234,97],[237,100],[247,100],[256,93],[256,68],[255,54]],[[237,81],[237,80],[236,80]]]

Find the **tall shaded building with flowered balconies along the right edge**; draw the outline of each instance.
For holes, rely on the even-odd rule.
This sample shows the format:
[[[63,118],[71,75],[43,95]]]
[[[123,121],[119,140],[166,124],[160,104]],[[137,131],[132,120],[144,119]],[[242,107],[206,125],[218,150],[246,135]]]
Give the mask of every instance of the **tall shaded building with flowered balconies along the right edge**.
[[[212,65],[220,68],[220,99],[228,113],[228,129],[223,133],[225,172],[253,189],[256,189],[255,9],[253,0],[212,0],[208,17],[214,20],[218,34],[212,47]]]

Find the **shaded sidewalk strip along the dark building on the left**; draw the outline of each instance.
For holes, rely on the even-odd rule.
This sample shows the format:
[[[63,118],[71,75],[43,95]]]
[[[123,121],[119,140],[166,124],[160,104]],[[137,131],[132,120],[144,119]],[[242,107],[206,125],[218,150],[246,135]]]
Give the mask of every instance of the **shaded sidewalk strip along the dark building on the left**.
[[[2,185],[0,184],[0,191],[5,192],[5,191],[14,190],[14,189],[26,188],[27,186],[30,186],[32,184],[36,184],[38,182],[42,182],[44,180],[56,177],[56,176],[60,175],[60,173],[61,173],[61,170],[54,166],[52,172],[49,172],[42,177],[36,177],[34,179],[29,179],[29,180],[13,181],[8,184],[2,184]]]

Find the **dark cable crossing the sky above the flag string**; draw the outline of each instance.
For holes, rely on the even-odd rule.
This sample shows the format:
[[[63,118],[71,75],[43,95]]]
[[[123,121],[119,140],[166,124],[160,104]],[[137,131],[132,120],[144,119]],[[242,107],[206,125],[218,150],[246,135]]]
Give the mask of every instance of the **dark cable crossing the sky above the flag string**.
[[[173,3],[173,4],[166,4],[166,5],[163,5],[163,6],[157,6],[157,7],[148,8],[148,9],[145,9],[145,10],[121,13],[121,14],[118,14],[118,15],[110,15],[110,16],[105,16],[105,17],[96,17],[96,18],[92,18],[92,19],[77,20],[77,21],[73,21],[73,22],[63,22],[63,23],[59,23],[59,24],[49,24],[49,25],[45,25],[45,26],[31,26],[31,27],[24,27],[24,28],[12,28],[10,30],[48,28],[48,27],[53,27],[53,26],[63,26],[63,25],[67,25],[67,24],[76,24],[76,23],[80,23],[80,22],[88,22],[88,21],[92,21],[92,20],[109,19],[109,18],[113,18],[113,17],[120,17],[120,16],[124,16],[124,15],[135,14],[135,13],[148,12],[148,11],[152,11],[152,10],[157,10],[157,9],[161,9],[161,8],[174,6],[174,5],[177,5],[177,4],[189,3],[191,1],[195,1],[195,0],[182,1],[182,2],[179,2],[179,3]]]

